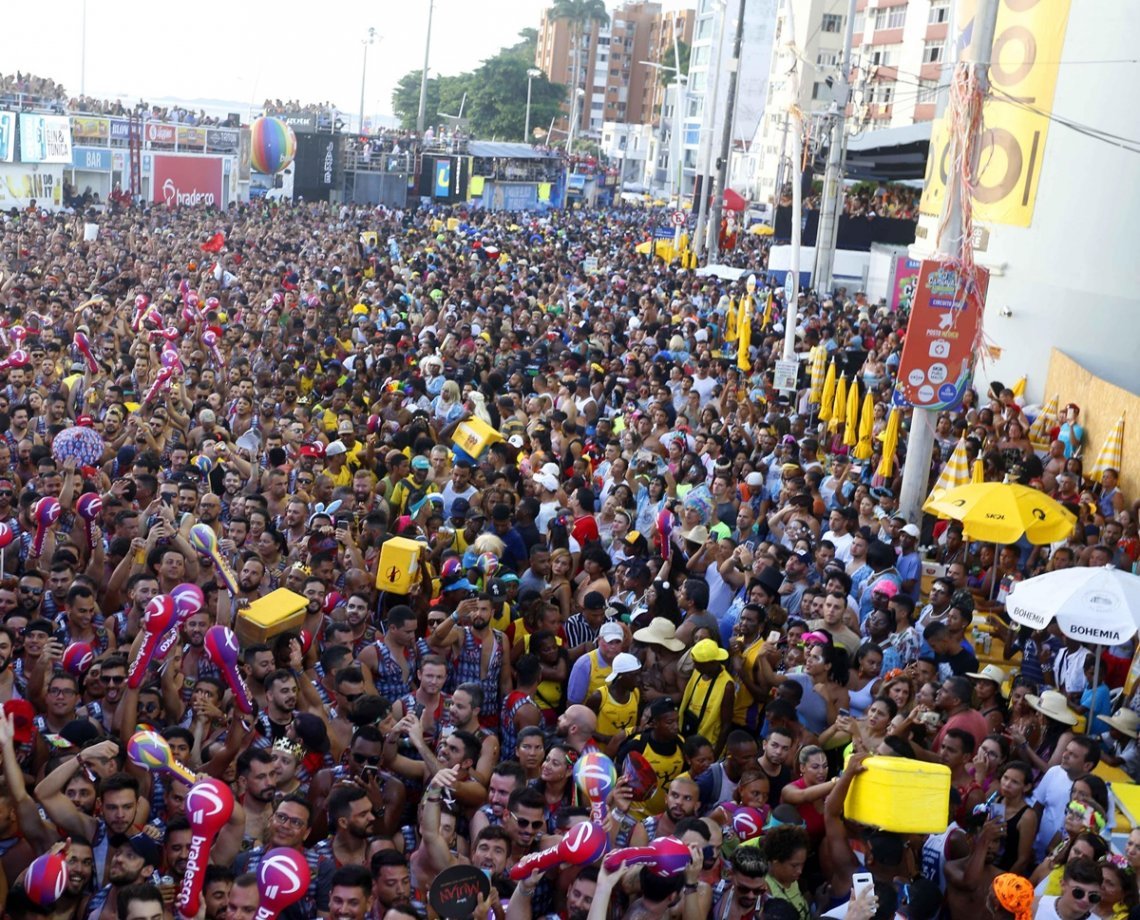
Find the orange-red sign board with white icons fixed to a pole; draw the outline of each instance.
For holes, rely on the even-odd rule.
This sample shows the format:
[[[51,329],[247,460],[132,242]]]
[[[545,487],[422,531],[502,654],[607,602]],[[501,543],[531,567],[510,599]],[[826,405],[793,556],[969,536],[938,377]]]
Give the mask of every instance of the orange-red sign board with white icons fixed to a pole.
[[[922,260],[898,363],[896,406],[953,409],[962,401],[974,376],[975,340],[990,285],[990,272],[975,270],[977,285],[968,287],[951,262]]]

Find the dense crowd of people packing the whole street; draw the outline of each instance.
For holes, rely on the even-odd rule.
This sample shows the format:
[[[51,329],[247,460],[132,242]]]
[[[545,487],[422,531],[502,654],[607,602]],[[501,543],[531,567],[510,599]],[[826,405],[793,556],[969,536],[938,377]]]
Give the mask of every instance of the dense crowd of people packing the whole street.
[[[6,915],[174,912],[189,787],[128,759],[140,728],[234,791],[209,920],[253,917],[275,847],[311,869],[286,920],[423,918],[461,864],[492,885],[475,915],[511,920],[1135,907],[1140,831],[1110,846],[1094,772],[1140,779],[1134,697],[1114,711],[1089,648],[1002,609],[1034,572],[1135,559],[1135,511],[1115,480],[1083,480],[1074,413],[1045,457],[1000,384],[939,417],[931,481],[964,435],[988,479],[1081,508],[1068,539],[995,553],[904,520],[905,456],[887,477],[881,440],[855,458],[842,421],[819,423],[806,367],[798,392],[773,390],[779,299],[752,310],[750,347],[726,341],[743,283],[636,254],[641,213],[99,220],[93,241],[79,217],[0,228]],[[765,252],[738,254],[762,286]],[[825,348],[881,406],[879,433],[905,317],[840,292],[795,321],[803,353]],[[64,449],[81,429],[93,456]],[[414,564],[382,565],[397,537]],[[920,543],[944,572],[929,584]],[[128,682],[154,599],[187,583],[204,604]],[[279,588],[302,620],[252,641],[244,611]],[[979,660],[983,617],[1003,661]],[[213,626],[246,636],[250,714],[205,649]],[[1132,651],[1108,651],[1108,686]],[[512,879],[597,816],[575,779],[595,752],[617,771],[610,846],[674,837],[686,863]],[[887,758],[948,768],[945,831],[845,816]],[[43,906],[25,873],[51,849],[68,876]]]

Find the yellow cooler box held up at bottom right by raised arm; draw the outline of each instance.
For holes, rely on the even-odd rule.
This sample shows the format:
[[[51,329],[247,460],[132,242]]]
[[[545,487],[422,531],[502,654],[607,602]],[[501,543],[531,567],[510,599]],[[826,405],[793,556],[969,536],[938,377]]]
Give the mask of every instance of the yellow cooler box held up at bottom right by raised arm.
[[[942,833],[950,812],[950,767],[906,757],[868,757],[844,803],[861,824],[897,833]]]

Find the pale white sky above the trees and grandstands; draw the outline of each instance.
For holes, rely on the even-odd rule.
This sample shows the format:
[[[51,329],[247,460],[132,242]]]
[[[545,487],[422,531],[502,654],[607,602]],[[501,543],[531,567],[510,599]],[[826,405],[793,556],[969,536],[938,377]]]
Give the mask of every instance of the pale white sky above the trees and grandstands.
[[[365,113],[389,115],[396,82],[423,66],[427,0],[229,0],[201,7],[166,0],[42,0],[6,10],[0,73],[49,76],[78,95],[84,3],[90,96],[219,99],[237,105],[243,119],[267,97],[329,100],[355,114],[363,40],[374,26]],[[515,43],[520,30],[537,29],[549,5],[435,0],[430,71],[454,74],[478,66]]]

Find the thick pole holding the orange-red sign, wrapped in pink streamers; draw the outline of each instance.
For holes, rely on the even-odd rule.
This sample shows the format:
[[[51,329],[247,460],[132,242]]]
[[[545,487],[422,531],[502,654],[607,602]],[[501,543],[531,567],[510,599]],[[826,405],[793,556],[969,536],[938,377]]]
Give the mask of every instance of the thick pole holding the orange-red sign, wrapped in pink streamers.
[[[970,43],[962,55],[962,63],[970,67],[982,88],[983,96],[990,91],[990,59],[993,57],[994,32],[997,23],[999,0],[978,0],[977,9],[974,14],[974,22],[963,24],[958,30],[959,34],[970,30]],[[953,33],[952,33],[953,34]],[[955,35],[956,38],[956,35]],[[951,78],[956,81],[955,75]],[[950,95],[950,105],[955,105],[955,93],[953,89]],[[952,141],[953,143],[953,139]],[[978,157],[982,146],[974,148],[972,162],[970,163],[970,174],[977,176]],[[959,253],[953,252],[951,246],[972,246],[974,241],[962,239],[962,177],[958,170],[951,170],[946,179],[946,194],[943,198],[942,220],[938,226],[942,233],[935,245],[934,257],[938,255],[954,258]],[[926,490],[930,477],[930,455],[934,450],[934,425],[938,414],[934,409],[914,409],[911,416],[911,432],[906,439],[906,463],[903,466],[903,485],[899,489],[898,511],[907,520],[918,522],[922,513],[922,503],[926,499]]]

